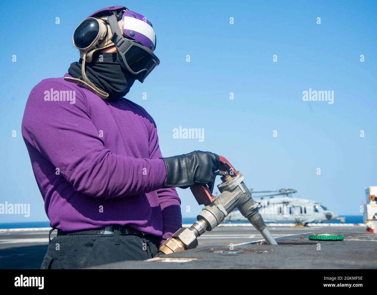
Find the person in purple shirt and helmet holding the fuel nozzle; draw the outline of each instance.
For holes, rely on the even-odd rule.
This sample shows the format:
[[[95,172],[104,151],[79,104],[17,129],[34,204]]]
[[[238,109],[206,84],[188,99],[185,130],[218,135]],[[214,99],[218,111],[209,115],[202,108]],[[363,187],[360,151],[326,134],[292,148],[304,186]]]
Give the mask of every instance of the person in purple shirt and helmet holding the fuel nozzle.
[[[123,97],[159,64],[143,15],[100,9],[73,41],[80,61],[32,89],[22,121],[46,214],[58,229],[41,268],[152,258],[182,226],[175,187],[211,185],[218,156],[163,158],[155,121]]]

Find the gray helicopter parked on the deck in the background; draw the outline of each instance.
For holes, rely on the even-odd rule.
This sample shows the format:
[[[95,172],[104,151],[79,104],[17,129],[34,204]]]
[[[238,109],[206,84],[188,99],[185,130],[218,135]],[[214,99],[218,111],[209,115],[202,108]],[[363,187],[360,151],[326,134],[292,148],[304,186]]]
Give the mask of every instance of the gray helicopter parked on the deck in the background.
[[[252,189],[250,191],[253,199],[259,202],[259,212],[265,222],[287,222],[297,225],[332,220],[345,222],[345,217],[339,217],[337,213],[328,210],[316,201],[292,197],[292,194],[297,193],[297,191],[291,188],[282,188],[277,191],[253,191]],[[238,210],[233,210],[225,217],[225,222],[235,221],[247,222],[247,219]]]

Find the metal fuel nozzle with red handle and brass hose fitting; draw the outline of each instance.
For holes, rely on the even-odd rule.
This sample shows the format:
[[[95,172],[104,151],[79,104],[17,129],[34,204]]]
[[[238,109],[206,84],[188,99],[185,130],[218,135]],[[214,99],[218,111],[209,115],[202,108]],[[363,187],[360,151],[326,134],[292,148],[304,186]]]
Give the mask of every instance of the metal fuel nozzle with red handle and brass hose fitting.
[[[198,247],[198,237],[218,226],[235,208],[262,234],[269,245],[277,245],[259,213],[259,203],[253,200],[244,183],[245,177],[236,171],[227,159],[219,157],[221,165],[218,174],[222,181],[218,185],[220,196],[214,197],[212,189],[207,186],[191,186],[199,205],[205,206],[198,214],[197,221],[190,228],[178,229],[172,238],[160,246],[159,252],[170,254]]]

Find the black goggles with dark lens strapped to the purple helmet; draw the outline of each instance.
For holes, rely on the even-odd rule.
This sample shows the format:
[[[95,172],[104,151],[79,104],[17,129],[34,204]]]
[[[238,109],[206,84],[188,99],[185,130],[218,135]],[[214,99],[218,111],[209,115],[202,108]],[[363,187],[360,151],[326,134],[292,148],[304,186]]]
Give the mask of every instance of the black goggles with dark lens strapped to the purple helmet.
[[[111,38],[117,49],[116,57],[119,63],[143,83],[160,60],[149,48],[123,36],[114,34]]]

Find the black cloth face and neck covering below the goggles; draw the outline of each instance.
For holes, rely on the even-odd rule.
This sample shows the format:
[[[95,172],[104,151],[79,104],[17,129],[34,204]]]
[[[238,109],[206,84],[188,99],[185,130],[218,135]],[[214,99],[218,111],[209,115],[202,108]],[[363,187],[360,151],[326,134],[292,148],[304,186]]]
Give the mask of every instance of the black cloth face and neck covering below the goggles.
[[[68,69],[69,75],[80,78],[83,60],[74,62]],[[116,53],[95,52],[91,63],[85,63],[88,79],[98,88],[109,93],[108,101],[117,101],[129,91],[136,76],[124,69],[116,58]]]

